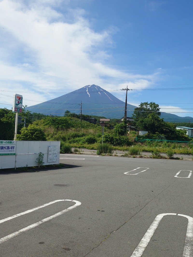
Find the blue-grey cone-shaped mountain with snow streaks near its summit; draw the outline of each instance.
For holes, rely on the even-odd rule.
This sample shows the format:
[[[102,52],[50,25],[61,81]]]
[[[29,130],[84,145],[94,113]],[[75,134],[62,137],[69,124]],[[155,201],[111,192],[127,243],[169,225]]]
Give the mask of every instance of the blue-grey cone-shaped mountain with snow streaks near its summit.
[[[87,85],[49,101],[27,107],[27,109],[31,112],[46,115],[63,116],[67,110],[79,114],[81,101],[83,114],[117,119],[124,116],[125,102],[94,84]],[[134,108],[136,106],[127,104],[127,117],[132,116]],[[192,117],[179,117],[171,113],[161,113],[161,117],[166,121],[176,122],[192,119]]]

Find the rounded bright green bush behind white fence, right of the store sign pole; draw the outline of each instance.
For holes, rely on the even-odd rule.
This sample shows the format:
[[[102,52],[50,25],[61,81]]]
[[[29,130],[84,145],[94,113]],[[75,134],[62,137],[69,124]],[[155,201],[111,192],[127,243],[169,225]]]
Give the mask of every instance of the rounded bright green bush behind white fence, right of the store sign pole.
[[[17,135],[17,140],[24,141],[46,141],[46,135],[40,127],[29,124],[21,129],[21,134]]]

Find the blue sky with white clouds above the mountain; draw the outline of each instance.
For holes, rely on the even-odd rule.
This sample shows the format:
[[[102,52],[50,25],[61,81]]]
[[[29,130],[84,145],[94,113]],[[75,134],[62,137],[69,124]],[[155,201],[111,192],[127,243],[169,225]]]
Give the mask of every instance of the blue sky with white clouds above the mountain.
[[[130,104],[193,117],[192,11],[190,0],[2,0],[0,107],[91,84],[124,101],[128,85]]]

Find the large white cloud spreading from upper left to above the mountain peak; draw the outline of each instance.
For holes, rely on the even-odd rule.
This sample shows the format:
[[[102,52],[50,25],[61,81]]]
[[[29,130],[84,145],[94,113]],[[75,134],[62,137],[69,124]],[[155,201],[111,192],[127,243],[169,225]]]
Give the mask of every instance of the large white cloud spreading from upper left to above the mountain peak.
[[[108,49],[113,45],[115,29],[93,31],[83,17],[84,10],[71,10],[69,2],[0,2],[0,33],[7,39],[0,45],[0,52],[4,53],[0,63],[2,87],[11,84],[26,92],[57,89],[70,92],[89,84],[106,90],[125,85],[145,88],[157,80],[159,72],[132,74],[106,65],[106,59],[111,58]],[[65,13],[54,9],[59,4],[63,4]],[[26,96],[29,99],[32,94]],[[57,96],[44,95],[41,99]]]

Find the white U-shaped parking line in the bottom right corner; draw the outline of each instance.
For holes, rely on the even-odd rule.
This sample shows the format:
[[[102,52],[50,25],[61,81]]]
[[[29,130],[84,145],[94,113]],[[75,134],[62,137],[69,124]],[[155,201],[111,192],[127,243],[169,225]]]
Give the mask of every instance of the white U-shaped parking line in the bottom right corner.
[[[156,216],[150,227],[148,228],[147,232],[143,236],[142,240],[139,242],[137,247],[135,248],[134,252],[131,254],[130,257],[141,257],[143,252],[145,251],[148,243],[150,242],[153,234],[155,233],[158,225],[160,224],[162,218],[165,215],[177,215],[176,213],[162,213]],[[188,219],[187,231],[186,231],[186,238],[185,244],[183,249],[183,257],[192,257],[193,251],[193,218],[187,215],[178,214],[178,216],[183,216]]]

